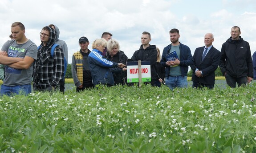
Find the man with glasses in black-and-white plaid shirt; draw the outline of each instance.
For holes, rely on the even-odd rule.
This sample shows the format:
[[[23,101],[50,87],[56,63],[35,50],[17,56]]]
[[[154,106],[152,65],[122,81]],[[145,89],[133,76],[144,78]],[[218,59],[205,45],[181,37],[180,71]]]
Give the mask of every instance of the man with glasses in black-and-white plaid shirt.
[[[37,52],[37,61],[34,62],[35,91],[53,91],[59,87],[64,75],[64,53],[60,46],[55,47],[53,56],[51,49],[55,43],[55,31],[51,27],[43,27],[40,32],[41,45]]]

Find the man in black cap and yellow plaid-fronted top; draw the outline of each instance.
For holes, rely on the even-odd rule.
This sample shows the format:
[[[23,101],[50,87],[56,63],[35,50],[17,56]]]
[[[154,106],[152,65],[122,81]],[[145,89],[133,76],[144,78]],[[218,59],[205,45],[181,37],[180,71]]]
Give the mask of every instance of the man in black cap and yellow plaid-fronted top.
[[[77,51],[72,56],[72,77],[74,84],[77,86],[77,92],[85,89],[93,88],[93,79],[88,63],[89,40],[86,37],[81,37],[78,40],[80,51]]]

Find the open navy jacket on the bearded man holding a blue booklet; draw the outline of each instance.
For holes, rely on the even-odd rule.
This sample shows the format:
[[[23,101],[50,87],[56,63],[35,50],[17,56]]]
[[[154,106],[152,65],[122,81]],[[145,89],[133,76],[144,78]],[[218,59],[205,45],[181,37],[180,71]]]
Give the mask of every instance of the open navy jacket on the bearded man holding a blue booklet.
[[[164,55],[167,55],[169,53],[169,50],[171,49],[171,44],[168,45],[167,47],[163,48],[163,54],[162,54],[162,59],[160,61],[162,67],[165,68],[165,77],[169,77],[169,71],[170,67],[166,65],[166,59]],[[192,65],[193,62],[193,57],[191,55],[190,48],[182,43],[179,42],[179,50],[180,50],[180,57],[179,57],[179,66],[180,66],[180,71],[182,76],[187,76],[187,71],[188,71],[188,66]]]

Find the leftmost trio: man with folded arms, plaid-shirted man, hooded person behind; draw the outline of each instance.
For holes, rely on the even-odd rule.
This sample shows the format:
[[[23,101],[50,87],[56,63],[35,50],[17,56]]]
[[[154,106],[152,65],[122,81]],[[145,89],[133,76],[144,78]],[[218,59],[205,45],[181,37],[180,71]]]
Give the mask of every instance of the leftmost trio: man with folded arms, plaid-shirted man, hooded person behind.
[[[33,90],[64,92],[64,56],[68,58],[65,41],[59,40],[59,29],[50,24],[40,32],[41,45],[25,36],[20,22],[11,26],[12,39],[4,43],[0,51],[0,64],[4,65],[4,82],[0,94],[29,94]],[[51,49],[54,44],[53,55]]]

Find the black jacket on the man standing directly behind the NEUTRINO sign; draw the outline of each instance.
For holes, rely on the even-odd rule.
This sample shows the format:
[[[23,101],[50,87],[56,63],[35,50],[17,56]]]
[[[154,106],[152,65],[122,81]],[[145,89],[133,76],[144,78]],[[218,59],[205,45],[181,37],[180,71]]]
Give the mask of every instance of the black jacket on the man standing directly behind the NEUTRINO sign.
[[[131,59],[133,61],[150,61],[151,84],[158,80],[157,71],[155,70],[157,61],[157,50],[155,45],[150,45],[149,47],[146,47],[146,49],[141,45],[139,50],[134,52]]]

